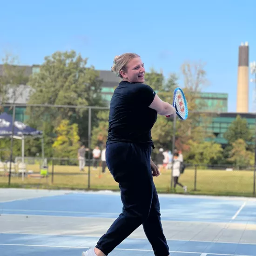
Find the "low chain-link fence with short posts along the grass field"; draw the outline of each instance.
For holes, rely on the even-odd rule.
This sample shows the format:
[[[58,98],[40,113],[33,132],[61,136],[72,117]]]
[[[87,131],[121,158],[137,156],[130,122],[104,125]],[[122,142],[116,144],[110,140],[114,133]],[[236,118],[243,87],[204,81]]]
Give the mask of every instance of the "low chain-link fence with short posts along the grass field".
[[[22,188],[119,190],[101,160],[94,163],[86,159],[83,170],[79,169],[79,161],[71,158],[48,158],[44,164],[25,158],[25,162],[23,170],[19,169],[19,162],[13,162],[11,179],[8,166],[4,166],[0,172],[0,186],[8,187],[10,182],[11,187]],[[181,186],[174,188],[171,167],[159,168],[161,175],[154,177],[156,189],[162,193],[183,193]],[[188,188],[189,194],[255,196],[255,174],[254,167],[187,165],[178,182]]]

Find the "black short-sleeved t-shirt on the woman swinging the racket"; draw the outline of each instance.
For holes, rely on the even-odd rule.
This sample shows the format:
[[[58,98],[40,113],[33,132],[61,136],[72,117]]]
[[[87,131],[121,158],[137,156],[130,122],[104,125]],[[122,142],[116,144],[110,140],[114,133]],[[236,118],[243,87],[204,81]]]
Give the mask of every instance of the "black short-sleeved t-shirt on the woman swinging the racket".
[[[148,108],[155,91],[146,84],[121,81],[110,101],[108,143],[128,141],[152,146],[157,112]]]

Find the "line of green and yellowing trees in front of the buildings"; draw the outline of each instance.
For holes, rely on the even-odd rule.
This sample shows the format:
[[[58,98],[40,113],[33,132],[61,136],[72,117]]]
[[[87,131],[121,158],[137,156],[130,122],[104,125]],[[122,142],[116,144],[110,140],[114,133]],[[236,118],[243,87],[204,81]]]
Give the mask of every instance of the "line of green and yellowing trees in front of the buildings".
[[[27,84],[30,95],[27,104],[76,105],[106,107],[102,98],[99,71],[88,67],[88,58],[75,51],[55,52],[46,56],[38,73],[26,75],[26,70],[17,65],[15,58],[5,56],[0,76],[0,106],[22,95],[20,85]],[[175,148],[182,150],[185,162],[191,164],[233,164],[249,166],[254,164],[254,135],[246,119],[237,116],[231,123],[224,138],[226,147],[215,142],[215,135],[207,132],[213,117],[200,112],[206,107],[205,101],[198,101],[200,92],[209,83],[205,64],[184,62],[180,75],[170,73],[166,79],[161,72],[150,68],[145,74],[145,83],[150,85],[163,101],[172,103],[173,92],[181,87],[189,106],[189,119],[177,119]],[[11,90],[10,90],[11,89]],[[11,94],[10,95],[10,91]],[[1,108],[3,111],[3,108]],[[212,109],[217,112],[218,109]],[[46,157],[76,158],[81,144],[88,147],[88,109],[27,107],[25,121],[29,126],[43,131]],[[93,109],[91,119],[91,148],[104,146],[108,135],[108,111]],[[158,116],[152,129],[155,150],[171,149],[173,119]],[[14,140],[13,155],[21,155],[20,141]],[[0,140],[0,157],[9,156],[10,139]],[[25,156],[41,154],[41,142],[27,139]]]

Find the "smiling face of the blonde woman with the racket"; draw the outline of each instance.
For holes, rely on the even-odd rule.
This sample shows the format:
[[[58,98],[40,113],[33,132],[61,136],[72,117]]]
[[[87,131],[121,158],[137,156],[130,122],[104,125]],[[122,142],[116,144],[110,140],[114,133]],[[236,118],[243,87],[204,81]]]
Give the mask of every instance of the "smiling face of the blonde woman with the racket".
[[[145,81],[144,63],[142,63],[141,58],[134,58],[129,61],[126,71],[121,70],[120,74],[124,81],[128,81],[130,83],[143,83]]]

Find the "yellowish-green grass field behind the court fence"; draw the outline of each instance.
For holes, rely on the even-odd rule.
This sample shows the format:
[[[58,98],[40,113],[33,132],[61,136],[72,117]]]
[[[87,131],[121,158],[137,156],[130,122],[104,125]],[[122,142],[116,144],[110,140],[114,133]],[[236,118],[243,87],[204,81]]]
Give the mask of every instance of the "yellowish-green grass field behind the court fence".
[[[28,170],[39,172],[39,165],[28,165]],[[11,187],[31,187],[51,189],[88,189],[88,177],[90,178],[89,189],[111,189],[119,190],[118,184],[106,168],[106,173],[101,174],[101,168],[94,170],[88,168],[85,172],[80,172],[77,166],[54,166],[54,176],[52,183],[52,166],[49,166],[49,177],[32,178],[11,177]],[[238,195],[253,196],[253,171],[224,171],[224,170],[197,170],[196,190],[195,171],[186,169],[181,175],[179,182],[188,186],[189,194],[203,195]],[[0,176],[0,187],[8,187],[7,176]],[[161,175],[154,177],[156,189],[159,193],[173,193],[170,188],[171,170],[161,172]],[[176,193],[183,193],[182,188],[177,187]]]

